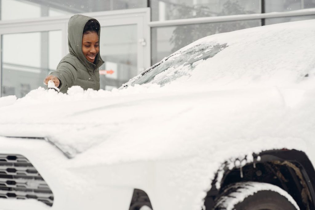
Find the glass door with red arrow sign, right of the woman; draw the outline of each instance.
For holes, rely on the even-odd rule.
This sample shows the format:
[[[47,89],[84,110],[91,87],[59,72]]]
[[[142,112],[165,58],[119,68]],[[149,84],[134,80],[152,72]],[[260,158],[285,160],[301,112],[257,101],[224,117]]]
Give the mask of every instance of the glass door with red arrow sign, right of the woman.
[[[150,10],[141,10],[146,12],[122,12],[98,19],[100,55],[105,61],[100,67],[101,89],[119,88],[150,67]]]

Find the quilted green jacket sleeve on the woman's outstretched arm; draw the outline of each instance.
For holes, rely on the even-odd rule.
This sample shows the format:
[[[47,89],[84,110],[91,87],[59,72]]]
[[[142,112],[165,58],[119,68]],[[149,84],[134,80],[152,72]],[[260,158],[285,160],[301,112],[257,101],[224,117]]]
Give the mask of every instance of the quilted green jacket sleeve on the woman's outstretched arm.
[[[50,75],[59,79],[60,85],[58,88],[60,89],[60,92],[65,92],[68,88],[70,88],[77,78],[77,68],[74,63],[71,63],[60,62],[57,66],[57,70],[50,73]]]

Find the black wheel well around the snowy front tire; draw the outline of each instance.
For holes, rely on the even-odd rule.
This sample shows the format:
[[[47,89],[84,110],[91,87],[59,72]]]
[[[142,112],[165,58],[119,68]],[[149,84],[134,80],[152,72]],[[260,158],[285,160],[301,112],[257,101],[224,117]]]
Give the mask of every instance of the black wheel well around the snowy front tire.
[[[211,210],[215,199],[227,187],[237,182],[264,182],[277,185],[287,191],[296,201],[300,209],[314,210],[314,168],[306,154],[297,150],[272,150],[261,152],[260,161],[247,163],[243,167],[224,167],[220,181],[220,189],[216,189],[218,173],[208,191],[204,205]],[[255,158],[254,158],[255,160]],[[225,163],[226,164],[226,163]],[[311,179],[310,179],[311,178]]]

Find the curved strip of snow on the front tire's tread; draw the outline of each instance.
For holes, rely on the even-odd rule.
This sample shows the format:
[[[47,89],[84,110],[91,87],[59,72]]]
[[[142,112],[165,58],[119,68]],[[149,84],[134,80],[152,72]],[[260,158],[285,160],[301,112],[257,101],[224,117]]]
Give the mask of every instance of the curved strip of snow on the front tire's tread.
[[[229,196],[226,197],[224,202],[221,203],[222,207],[224,207],[226,210],[233,210],[236,204],[242,202],[245,198],[254,195],[255,193],[261,190],[271,190],[279,193],[280,195],[286,197],[295,206],[297,210],[300,210],[299,206],[292,198],[292,196],[290,196],[289,193],[287,193],[286,191],[284,191],[283,189],[276,185],[259,182],[246,182],[239,183],[238,187],[239,188],[237,192],[229,194]]]

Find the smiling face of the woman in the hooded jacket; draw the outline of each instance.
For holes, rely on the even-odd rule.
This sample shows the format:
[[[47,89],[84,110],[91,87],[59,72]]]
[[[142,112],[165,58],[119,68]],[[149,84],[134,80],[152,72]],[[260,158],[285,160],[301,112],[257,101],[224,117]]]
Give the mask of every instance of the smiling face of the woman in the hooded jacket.
[[[96,55],[100,51],[98,35],[95,31],[88,31],[82,37],[82,52],[86,59],[94,62]]]

